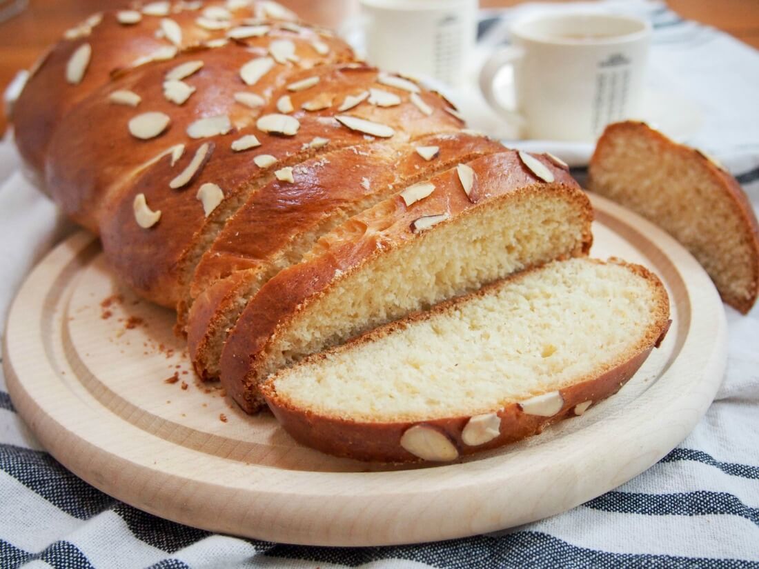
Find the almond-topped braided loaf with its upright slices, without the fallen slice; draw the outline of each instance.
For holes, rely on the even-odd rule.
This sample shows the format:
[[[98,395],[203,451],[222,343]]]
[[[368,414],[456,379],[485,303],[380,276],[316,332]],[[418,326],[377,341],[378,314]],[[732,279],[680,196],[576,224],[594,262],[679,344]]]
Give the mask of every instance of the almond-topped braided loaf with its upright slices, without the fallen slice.
[[[43,187],[249,412],[282,367],[591,246],[562,162],[468,131],[273,2],[96,14],[12,121]]]

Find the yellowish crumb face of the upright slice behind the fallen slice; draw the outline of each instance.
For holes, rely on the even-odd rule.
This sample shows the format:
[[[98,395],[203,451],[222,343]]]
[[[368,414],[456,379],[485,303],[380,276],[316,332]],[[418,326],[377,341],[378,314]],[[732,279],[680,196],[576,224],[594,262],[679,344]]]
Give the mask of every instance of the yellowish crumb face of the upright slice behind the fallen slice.
[[[585,212],[574,202],[531,190],[509,198],[438,225],[336,281],[269,344],[260,378],[513,272],[581,253]]]

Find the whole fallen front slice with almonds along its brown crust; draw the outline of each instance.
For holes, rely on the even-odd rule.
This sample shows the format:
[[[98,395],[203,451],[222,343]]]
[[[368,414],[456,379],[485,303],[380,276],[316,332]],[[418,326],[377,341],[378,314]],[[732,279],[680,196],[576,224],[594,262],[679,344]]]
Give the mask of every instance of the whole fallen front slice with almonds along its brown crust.
[[[298,442],[364,461],[452,461],[581,415],[669,327],[659,279],[578,258],[522,272],[282,369],[266,402]]]

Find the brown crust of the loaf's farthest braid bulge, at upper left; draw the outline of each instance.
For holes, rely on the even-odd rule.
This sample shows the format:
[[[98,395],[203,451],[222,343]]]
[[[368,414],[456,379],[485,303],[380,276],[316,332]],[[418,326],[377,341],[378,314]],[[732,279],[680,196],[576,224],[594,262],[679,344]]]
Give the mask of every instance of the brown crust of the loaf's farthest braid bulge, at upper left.
[[[226,2],[206,2],[209,6],[226,7]],[[83,22],[79,31],[69,30],[71,39],[61,39],[52,46],[27,82],[27,86],[14,104],[11,121],[14,124],[16,144],[20,155],[33,171],[43,172],[47,146],[57,129],[61,118],[94,90],[109,82],[113,74],[131,68],[140,58],[150,57],[160,49],[172,47],[172,42],[156,36],[161,26],[162,16],[143,14],[137,24],[120,24],[118,10],[108,10],[93,14],[90,26]],[[181,9],[174,3],[168,18],[174,20],[182,30],[181,49],[202,45],[213,39],[224,38],[227,30],[206,30],[197,25],[202,11]],[[230,11],[230,27],[242,25],[251,17],[272,17],[263,14],[261,3],[241,6]],[[285,14],[282,14],[285,15]],[[92,57],[87,73],[78,84],[65,80],[65,70],[69,58],[83,43],[89,43]],[[55,96],[51,96],[55,93]]]

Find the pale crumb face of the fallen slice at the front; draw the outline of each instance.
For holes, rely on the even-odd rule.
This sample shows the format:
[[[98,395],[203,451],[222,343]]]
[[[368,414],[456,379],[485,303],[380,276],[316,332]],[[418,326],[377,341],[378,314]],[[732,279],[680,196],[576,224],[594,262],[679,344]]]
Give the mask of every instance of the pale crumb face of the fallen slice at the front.
[[[553,262],[272,381],[280,400],[329,417],[487,413],[635,355],[656,339],[647,335],[662,318],[660,298],[659,288],[625,266]]]

